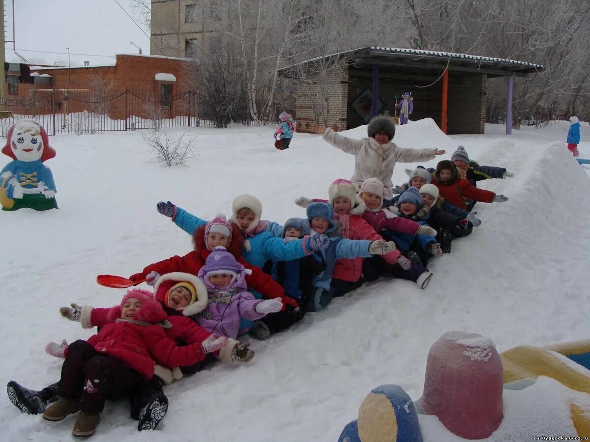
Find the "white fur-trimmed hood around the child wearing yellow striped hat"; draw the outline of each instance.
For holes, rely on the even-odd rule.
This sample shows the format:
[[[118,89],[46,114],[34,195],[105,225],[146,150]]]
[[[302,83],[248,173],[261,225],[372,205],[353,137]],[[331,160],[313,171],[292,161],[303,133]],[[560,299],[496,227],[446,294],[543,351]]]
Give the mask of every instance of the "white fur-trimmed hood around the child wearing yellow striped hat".
[[[182,314],[185,316],[196,315],[202,312],[207,307],[207,288],[205,288],[199,278],[191,275],[191,273],[172,272],[160,276],[153,286],[156,299],[168,307],[168,293],[181,284],[191,292],[193,297],[186,307],[177,308],[176,310],[182,311]]]

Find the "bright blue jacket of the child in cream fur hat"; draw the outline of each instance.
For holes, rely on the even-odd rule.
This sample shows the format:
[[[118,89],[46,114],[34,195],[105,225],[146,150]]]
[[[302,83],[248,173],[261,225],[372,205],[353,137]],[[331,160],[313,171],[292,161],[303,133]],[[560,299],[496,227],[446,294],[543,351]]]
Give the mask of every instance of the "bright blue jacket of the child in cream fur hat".
[[[189,235],[192,235],[198,227],[207,224],[207,221],[191,215],[191,213],[178,206],[176,206],[174,222]],[[273,228],[277,229],[276,226]],[[243,250],[242,256],[248,264],[260,268],[263,268],[264,263],[268,260],[291,261],[309,255],[306,252],[306,242],[309,243],[309,238],[286,243],[282,238],[277,238],[273,233],[265,230],[257,233],[252,238],[248,238],[248,241],[250,241],[251,250],[250,252]]]

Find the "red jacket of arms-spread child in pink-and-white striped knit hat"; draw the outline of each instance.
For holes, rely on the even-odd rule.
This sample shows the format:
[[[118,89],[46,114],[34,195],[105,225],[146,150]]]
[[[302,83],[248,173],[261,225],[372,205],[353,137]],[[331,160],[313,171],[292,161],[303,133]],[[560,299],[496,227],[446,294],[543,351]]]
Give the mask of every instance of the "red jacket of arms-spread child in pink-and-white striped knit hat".
[[[135,275],[129,276],[131,281],[137,281],[138,279],[145,278],[149,272],[158,272],[160,275],[171,272],[185,272],[191,273],[192,275],[198,275],[201,267],[205,265],[205,259],[211,253],[211,250],[207,250],[205,247],[205,226],[201,226],[195,230],[193,235],[194,250],[186,253],[184,256],[172,256],[172,258],[165,259],[154,264],[147,266],[141,273],[135,273]],[[248,288],[255,290],[263,295],[264,298],[281,298],[283,300],[283,311],[287,304],[297,308],[297,302],[289,296],[285,296],[283,288],[262,271],[260,267],[251,266],[245,262],[242,258],[242,247],[244,240],[238,230],[238,227],[234,225],[234,231],[232,232],[232,240],[228,252],[234,255],[235,259],[247,269],[251,269],[252,274],[246,276],[246,283]]]

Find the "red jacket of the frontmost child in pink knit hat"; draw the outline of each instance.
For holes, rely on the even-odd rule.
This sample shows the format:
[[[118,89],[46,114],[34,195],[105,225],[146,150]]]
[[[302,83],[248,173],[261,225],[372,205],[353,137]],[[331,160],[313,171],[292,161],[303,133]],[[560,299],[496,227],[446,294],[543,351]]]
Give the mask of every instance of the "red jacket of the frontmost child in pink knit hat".
[[[112,309],[107,310],[112,313]],[[110,316],[112,314],[107,314],[106,317],[113,321]],[[155,324],[166,319],[166,314],[158,301],[144,303],[135,319],[136,321],[109,322],[98,334],[91,336],[88,342],[96,351],[119,359],[133,370],[140,372],[146,379],[151,379],[154,374],[155,362],[152,355],[168,367],[196,364],[205,357],[200,342],[178,347],[171,338],[166,336],[162,326],[138,324],[138,322]]]

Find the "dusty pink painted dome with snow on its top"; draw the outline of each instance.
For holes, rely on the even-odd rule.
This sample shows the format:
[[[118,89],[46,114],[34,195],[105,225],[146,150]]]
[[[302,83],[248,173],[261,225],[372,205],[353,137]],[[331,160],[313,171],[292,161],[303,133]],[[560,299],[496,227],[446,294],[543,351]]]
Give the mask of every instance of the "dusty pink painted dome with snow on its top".
[[[418,405],[457,436],[481,439],[502,421],[502,387],[494,343],[476,333],[448,332],[428,352]]]

